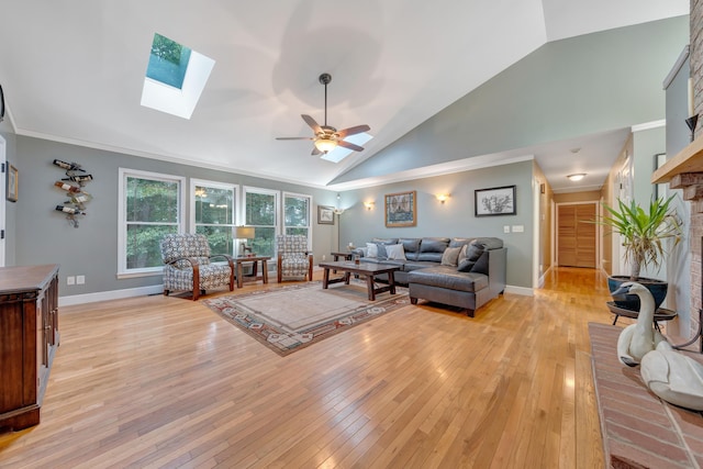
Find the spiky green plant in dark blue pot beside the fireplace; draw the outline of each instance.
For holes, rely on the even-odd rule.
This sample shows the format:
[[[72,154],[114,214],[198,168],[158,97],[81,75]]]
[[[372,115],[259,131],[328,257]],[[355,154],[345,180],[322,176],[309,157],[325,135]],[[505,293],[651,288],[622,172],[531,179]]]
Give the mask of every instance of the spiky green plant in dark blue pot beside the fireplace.
[[[625,261],[631,267],[629,277],[611,276],[609,278],[607,284],[611,292],[617,290],[625,281],[636,281],[649,289],[655,298],[655,309],[661,305],[667,295],[667,282],[644,278],[639,273],[643,268],[649,266],[660,269],[667,254],[667,243],[672,242],[671,247],[673,247],[681,241],[681,223],[670,206],[674,197],[671,196],[666,200],[652,199],[649,202],[648,212],[635,201],[626,204],[618,199],[617,209],[603,204],[609,215],[602,216],[598,223],[622,236]],[[639,298],[634,294],[614,300],[620,308],[639,311]]]

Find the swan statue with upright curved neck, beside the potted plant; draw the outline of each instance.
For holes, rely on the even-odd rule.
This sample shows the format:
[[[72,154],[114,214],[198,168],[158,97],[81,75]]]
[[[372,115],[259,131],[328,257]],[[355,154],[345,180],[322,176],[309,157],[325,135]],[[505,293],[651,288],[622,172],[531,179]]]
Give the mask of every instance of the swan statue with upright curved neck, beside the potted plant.
[[[655,299],[649,290],[637,282],[625,282],[612,295],[627,293],[639,297],[639,314],[637,323],[628,325],[620,333],[617,358],[622,364],[635,367],[639,365],[645,354],[654,350],[657,344],[667,339],[655,328]]]

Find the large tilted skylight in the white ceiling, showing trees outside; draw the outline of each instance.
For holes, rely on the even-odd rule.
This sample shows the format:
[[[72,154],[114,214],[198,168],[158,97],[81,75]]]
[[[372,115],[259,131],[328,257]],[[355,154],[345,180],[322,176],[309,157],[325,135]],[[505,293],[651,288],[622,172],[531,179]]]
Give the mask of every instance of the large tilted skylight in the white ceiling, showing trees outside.
[[[154,34],[142,105],[190,119],[214,65],[210,57]]]

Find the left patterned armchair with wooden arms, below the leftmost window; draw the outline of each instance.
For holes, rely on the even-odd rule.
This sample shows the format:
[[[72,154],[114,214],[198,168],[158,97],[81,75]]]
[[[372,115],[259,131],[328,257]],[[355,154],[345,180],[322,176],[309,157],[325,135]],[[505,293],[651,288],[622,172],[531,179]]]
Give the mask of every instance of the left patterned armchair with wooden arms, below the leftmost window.
[[[171,290],[192,290],[193,301],[205,290],[230,286],[234,290],[234,261],[224,254],[210,255],[208,238],[201,234],[168,234],[161,239],[164,294]],[[227,264],[211,264],[221,257]]]

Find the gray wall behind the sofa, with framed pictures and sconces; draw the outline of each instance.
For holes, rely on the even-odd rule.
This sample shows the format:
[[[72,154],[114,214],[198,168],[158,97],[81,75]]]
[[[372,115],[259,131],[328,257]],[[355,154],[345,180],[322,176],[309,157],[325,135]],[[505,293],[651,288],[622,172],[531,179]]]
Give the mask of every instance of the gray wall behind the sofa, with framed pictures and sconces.
[[[533,161],[416,179],[405,182],[359,189],[342,194],[342,248],[352,242],[364,246],[372,237],[422,236],[495,236],[507,247],[507,284],[531,289],[533,266]],[[476,189],[516,186],[517,214],[475,216]],[[384,194],[417,191],[417,225],[387,228],[383,219]],[[442,204],[437,193],[450,193]],[[373,210],[364,202],[373,201]],[[503,226],[523,225],[523,233],[503,233]]]

